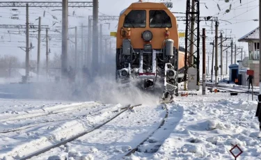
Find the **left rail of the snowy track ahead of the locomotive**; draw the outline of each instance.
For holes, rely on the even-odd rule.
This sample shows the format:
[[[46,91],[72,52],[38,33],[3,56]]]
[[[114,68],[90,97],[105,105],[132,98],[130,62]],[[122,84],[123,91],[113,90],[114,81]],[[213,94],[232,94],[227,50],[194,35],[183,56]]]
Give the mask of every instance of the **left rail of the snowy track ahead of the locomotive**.
[[[97,127],[94,127],[93,129],[90,129],[90,130],[88,130],[88,131],[84,131],[84,132],[81,133],[81,134],[77,134],[76,136],[73,136],[72,138],[68,138],[67,140],[62,141],[61,143],[56,143],[55,145],[46,147],[46,148],[43,149],[43,150],[39,150],[39,151],[37,151],[37,152],[34,152],[33,154],[27,155],[26,157],[23,157],[23,158],[20,159],[20,160],[31,159],[32,157],[38,156],[39,154],[45,153],[45,152],[47,152],[47,151],[49,151],[49,150],[52,150],[52,149],[54,149],[54,148],[56,148],[56,147],[59,147],[59,146],[61,146],[61,145],[65,145],[65,144],[68,143],[68,142],[74,141],[74,140],[76,140],[77,138],[79,138],[79,137],[81,137],[81,136],[84,136],[84,135],[86,135],[86,134],[89,134],[90,132],[93,132],[93,131],[95,131],[95,130],[97,130],[97,129],[100,129],[100,127],[106,125],[108,122],[111,122],[111,120],[117,118],[119,115],[121,115],[121,114],[124,113],[125,111],[127,111],[127,110],[129,110],[129,109],[133,109],[135,106],[141,106],[141,105],[142,105],[142,104],[137,104],[137,105],[131,106],[131,104],[129,104],[129,105],[127,105],[126,107],[121,108],[120,110],[122,110],[122,111],[120,111],[118,114],[116,114],[115,116],[113,116],[113,118],[111,118],[111,119],[107,120],[106,122],[102,123],[102,125],[98,125]],[[114,112],[117,112],[117,111],[114,111]]]

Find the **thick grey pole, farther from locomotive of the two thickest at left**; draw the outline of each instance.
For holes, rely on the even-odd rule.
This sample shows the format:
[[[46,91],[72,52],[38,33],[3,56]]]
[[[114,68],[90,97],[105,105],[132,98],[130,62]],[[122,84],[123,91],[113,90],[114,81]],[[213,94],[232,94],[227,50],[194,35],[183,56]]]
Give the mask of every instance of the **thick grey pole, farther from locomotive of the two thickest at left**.
[[[68,0],[62,3],[62,78],[68,77]]]

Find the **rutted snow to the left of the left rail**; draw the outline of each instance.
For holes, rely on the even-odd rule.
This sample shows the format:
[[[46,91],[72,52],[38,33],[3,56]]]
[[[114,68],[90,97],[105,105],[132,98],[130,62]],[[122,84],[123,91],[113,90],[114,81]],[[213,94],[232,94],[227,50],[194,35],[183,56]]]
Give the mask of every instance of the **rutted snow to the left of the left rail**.
[[[8,104],[8,105],[7,105]],[[28,105],[26,105],[28,104]],[[111,118],[120,104],[3,100],[0,159],[19,159],[43,147],[90,130]]]

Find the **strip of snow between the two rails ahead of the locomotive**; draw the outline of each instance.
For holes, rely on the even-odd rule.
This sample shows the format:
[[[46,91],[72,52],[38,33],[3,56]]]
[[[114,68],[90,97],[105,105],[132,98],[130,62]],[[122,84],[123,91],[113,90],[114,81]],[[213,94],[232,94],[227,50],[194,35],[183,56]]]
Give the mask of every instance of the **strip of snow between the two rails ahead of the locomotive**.
[[[32,159],[48,159],[58,154],[74,159],[120,159],[157,129],[165,114],[161,105],[137,106],[77,141]]]

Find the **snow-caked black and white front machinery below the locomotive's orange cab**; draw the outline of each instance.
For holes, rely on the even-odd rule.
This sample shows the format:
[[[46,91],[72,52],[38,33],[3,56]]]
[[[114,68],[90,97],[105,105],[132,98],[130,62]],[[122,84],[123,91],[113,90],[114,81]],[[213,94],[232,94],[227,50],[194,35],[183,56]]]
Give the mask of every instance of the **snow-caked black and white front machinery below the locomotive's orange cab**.
[[[122,42],[116,52],[116,81],[122,87],[137,86],[141,90],[162,94],[163,100],[178,95],[178,49],[173,40],[164,40],[162,49],[134,49],[131,40]]]

